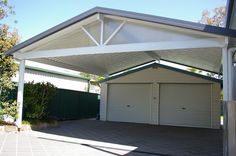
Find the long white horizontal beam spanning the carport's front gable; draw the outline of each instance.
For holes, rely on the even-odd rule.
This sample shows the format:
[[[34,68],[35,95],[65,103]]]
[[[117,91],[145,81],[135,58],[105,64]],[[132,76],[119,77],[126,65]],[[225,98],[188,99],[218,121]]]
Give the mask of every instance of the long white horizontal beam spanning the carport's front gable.
[[[74,56],[74,55],[88,55],[88,54],[145,52],[145,51],[213,48],[213,47],[222,48],[224,46],[225,43],[222,41],[212,40],[212,39],[196,39],[188,41],[130,43],[130,44],[119,44],[119,45],[31,51],[26,53],[15,53],[14,57],[19,59],[34,59],[34,58],[63,57],[63,56]]]

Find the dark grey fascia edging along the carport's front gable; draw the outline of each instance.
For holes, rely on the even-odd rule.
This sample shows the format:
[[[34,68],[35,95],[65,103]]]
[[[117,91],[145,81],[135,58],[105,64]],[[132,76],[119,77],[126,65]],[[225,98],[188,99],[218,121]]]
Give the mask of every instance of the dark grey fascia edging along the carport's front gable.
[[[183,20],[170,19],[170,18],[154,16],[154,15],[147,15],[147,14],[122,11],[122,10],[115,10],[115,9],[108,9],[108,8],[102,8],[102,7],[95,7],[93,9],[88,10],[88,11],[86,11],[74,18],[71,18],[68,21],[65,21],[65,22],[63,22],[51,29],[48,29],[45,32],[42,32],[41,34],[36,35],[36,36],[32,37],[31,39],[26,40],[25,42],[22,42],[16,46],[14,46],[13,48],[6,51],[6,54],[11,55],[12,53],[14,53],[24,47],[27,47],[39,40],[46,38],[47,36],[50,36],[50,35],[66,28],[66,27],[69,27],[69,26],[71,26],[79,21],[82,21],[83,19],[85,19],[89,16],[92,16],[94,14],[97,14],[97,13],[120,16],[120,17],[131,18],[131,19],[142,20],[142,21],[153,22],[153,23],[159,23],[159,24],[164,24],[164,25],[170,25],[170,26],[175,26],[175,27],[180,27],[180,28],[185,28],[185,29],[190,29],[190,30],[212,33],[212,34],[216,34],[216,35],[236,37],[236,31],[225,29],[225,28],[203,25],[203,24],[194,23],[194,22],[187,22],[187,21],[183,21]]]

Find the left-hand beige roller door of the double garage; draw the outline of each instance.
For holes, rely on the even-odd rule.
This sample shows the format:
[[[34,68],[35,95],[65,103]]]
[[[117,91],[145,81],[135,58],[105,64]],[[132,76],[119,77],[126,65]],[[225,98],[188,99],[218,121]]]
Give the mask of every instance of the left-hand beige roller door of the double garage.
[[[149,123],[151,84],[109,84],[108,121]]]

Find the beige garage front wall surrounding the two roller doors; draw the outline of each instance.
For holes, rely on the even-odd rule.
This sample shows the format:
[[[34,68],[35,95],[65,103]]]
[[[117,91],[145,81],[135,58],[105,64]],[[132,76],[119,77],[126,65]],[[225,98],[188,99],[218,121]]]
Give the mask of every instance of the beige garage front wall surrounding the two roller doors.
[[[158,68],[148,68],[139,72],[125,75],[105,83],[102,83],[102,94],[100,102],[100,119],[106,120],[107,111],[107,85],[112,83],[151,83],[152,84],[152,96],[159,99],[159,84],[161,83],[199,83],[199,84],[211,84],[211,110],[212,110],[212,128],[220,127],[220,84],[212,82],[210,80],[205,80],[195,76],[187,75],[184,73]],[[152,100],[151,116],[157,116],[158,114],[158,104],[159,100]],[[151,123],[157,124],[157,118],[152,118]]]

